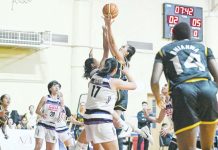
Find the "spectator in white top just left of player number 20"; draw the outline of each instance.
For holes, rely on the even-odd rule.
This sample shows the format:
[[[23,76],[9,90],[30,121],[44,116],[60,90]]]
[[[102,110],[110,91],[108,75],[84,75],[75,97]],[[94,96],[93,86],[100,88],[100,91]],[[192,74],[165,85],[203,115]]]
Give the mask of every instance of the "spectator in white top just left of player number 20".
[[[36,126],[37,115],[35,114],[33,105],[29,106],[29,112],[25,114],[25,117],[27,118],[28,125],[34,129]]]

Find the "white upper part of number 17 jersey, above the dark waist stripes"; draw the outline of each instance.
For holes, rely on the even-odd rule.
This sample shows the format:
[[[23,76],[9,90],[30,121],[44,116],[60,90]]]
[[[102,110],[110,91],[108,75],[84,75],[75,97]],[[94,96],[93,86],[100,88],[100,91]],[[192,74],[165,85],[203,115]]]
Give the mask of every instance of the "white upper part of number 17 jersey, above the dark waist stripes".
[[[86,109],[100,109],[112,113],[117,100],[117,91],[110,87],[110,77],[93,75],[89,82]]]

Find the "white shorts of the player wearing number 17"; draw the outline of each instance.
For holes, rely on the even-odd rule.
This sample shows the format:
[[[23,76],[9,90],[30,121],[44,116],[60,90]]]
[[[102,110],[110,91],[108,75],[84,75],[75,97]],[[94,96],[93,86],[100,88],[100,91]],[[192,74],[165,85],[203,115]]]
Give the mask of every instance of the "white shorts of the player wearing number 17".
[[[116,129],[113,123],[85,125],[86,140],[94,144],[117,140]]]

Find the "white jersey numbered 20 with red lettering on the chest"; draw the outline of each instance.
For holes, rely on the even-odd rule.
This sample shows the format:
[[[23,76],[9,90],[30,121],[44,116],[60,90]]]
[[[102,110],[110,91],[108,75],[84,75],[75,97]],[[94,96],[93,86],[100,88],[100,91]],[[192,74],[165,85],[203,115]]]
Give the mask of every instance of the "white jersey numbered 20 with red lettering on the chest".
[[[46,96],[46,101],[42,108],[42,112],[46,117],[41,117],[38,125],[55,127],[62,110],[59,98],[53,99],[50,95]]]

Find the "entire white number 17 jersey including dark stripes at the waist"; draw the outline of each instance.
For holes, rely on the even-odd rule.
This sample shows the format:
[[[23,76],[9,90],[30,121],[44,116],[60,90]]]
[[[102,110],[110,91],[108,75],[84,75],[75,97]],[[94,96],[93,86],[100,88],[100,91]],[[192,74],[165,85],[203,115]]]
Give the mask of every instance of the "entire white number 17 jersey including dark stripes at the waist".
[[[111,123],[117,91],[110,87],[110,77],[93,75],[89,82],[84,123],[86,125]]]

